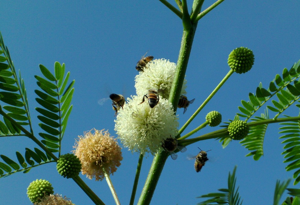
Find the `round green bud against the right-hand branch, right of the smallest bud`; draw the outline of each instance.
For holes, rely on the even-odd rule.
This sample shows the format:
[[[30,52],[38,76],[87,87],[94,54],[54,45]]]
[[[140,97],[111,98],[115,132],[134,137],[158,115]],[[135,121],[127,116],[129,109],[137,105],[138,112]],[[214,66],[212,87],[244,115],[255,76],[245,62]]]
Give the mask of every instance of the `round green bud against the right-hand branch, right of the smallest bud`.
[[[234,120],[228,125],[227,132],[231,139],[241,140],[248,135],[249,129],[249,125],[243,120]]]

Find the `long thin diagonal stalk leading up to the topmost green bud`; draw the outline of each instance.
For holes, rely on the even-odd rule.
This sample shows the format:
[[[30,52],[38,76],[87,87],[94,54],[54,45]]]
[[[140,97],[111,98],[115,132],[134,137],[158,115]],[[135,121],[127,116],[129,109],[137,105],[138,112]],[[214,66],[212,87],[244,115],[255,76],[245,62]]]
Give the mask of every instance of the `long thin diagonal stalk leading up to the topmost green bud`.
[[[200,107],[195,111],[195,113],[190,117],[190,119],[187,120],[187,122],[182,126],[182,128],[179,129],[179,134],[181,134],[184,129],[191,123],[191,121],[197,116],[197,114],[204,108],[204,106],[211,100],[212,97],[217,93],[217,91],[222,87],[222,85],[226,82],[227,79],[232,75],[234,71],[232,69],[229,70],[227,75],[223,78],[223,80],[217,85],[216,88],[211,92],[211,94],[206,98],[206,100],[200,105]]]

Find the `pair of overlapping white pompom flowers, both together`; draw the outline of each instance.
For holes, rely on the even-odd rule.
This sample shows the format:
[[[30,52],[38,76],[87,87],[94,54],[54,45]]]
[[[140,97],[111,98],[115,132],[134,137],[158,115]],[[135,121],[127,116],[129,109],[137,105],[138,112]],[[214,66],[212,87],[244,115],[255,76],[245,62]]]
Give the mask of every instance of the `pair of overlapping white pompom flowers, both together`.
[[[162,149],[161,143],[164,139],[176,137],[178,118],[174,114],[172,103],[168,101],[175,70],[175,63],[166,59],[155,59],[146,64],[144,71],[136,76],[137,96],[127,98],[127,103],[118,111],[115,120],[119,139],[132,152],[154,155]],[[186,80],[182,94],[186,93],[185,88]],[[154,102],[157,102],[153,108],[144,97],[149,97],[149,90],[158,91],[151,96],[153,100],[154,95]]]

